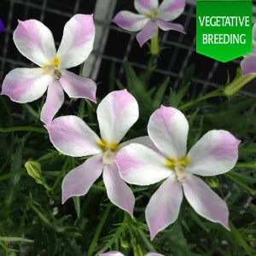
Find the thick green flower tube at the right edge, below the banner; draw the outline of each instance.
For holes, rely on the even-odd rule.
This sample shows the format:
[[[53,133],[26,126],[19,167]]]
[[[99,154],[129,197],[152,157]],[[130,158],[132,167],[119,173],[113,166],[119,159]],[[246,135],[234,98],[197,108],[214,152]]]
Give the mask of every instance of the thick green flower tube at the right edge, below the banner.
[[[238,90],[241,89],[245,84],[249,83],[251,80],[255,79],[255,74],[248,74],[246,76],[240,75],[238,78],[234,79],[230,84],[224,87],[224,95],[232,96]]]

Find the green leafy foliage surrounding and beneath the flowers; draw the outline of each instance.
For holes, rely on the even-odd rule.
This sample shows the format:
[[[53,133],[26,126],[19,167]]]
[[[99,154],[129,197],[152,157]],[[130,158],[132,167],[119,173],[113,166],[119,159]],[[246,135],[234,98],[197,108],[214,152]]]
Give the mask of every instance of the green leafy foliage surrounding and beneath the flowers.
[[[17,112],[17,104],[1,96],[0,255],[82,256],[108,250],[136,256],[149,251],[175,256],[256,255],[255,97],[227,98],[222,90],[197,96],[197,85],[191,82],[194,66],[183,71],[177,90],[172,88],[170,78],[152,84],[153,63],[150,57],[148,68],[137,74],[126,61],[125,83],[115,79],[115,67],[111,67],[109,91],[126,88],[140,108],[140,118],[124,140],[146,135],[148,118],[161,104],[186,114],[188,148],[212,129],[228,130],[241,139],[239,162],[233,170],[205,178],[228,203],[230,231],[201,218],[183,200],[177,222],[150,241],[144,210],[159,184],[131,186],[136,196],[133,219],[110,203],[102,177],[87,195],[62,205],[63,177],[86,158],[72,158],[55,150],[39,120],[40,100],[19,105]],[[75,104],[75,113],[98,132],[96,105],[84,99]]]

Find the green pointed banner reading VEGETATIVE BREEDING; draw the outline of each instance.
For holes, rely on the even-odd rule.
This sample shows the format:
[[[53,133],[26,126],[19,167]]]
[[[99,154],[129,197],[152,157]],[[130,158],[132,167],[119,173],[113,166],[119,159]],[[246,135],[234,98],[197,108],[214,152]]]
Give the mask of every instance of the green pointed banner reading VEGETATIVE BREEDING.
[[[196,52],[227,62],[253,51],[253,3],[196,1]]]

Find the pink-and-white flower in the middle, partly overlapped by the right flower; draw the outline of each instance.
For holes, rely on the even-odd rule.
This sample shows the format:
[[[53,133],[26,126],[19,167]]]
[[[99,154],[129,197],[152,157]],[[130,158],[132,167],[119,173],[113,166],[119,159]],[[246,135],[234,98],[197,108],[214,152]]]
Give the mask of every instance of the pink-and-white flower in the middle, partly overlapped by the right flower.
[[[119,176],[113,159],[129,143],[152,143],[149,137],[138,137],[126,143],[121,139],[138,119],[136,99],[127,90],[113,91],[97,108],[101,138],[76,116],[56,118],[49,126],[49,138],[61,153],[73,157],[93,155],[84,164],[68,172],[62,183],[62,203],[71,196],[85,195],[102,174],[108,198],[132,216],[134,195]]]

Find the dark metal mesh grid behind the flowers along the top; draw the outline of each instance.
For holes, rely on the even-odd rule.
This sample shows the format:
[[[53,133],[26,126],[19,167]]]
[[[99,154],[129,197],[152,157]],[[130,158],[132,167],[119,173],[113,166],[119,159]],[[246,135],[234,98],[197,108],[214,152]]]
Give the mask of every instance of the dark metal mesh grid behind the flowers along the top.
[[[103,4],[103,1],[107,0],[1,0],[0,17],[6,30],[0,34],[0,82],[2,83],[6,73],[14,67],[34,67],[31,61],[26,60],[19,53],[12,40],[18,19],[37,19],[44,22],[54,33],[58,46],[67,20],[76,13],[96,12],[97,4]],[[146,45],[143,49],[139,47],[135,38],[136,33],[125,31],[111,22],[113,15],[120,10],[135,12],[133,1],[110,0],[109,5],[111,6],[105,10],[108,14],[99,13],[95,19],[96,26],[102,27],[99,42],[103,45],[97,44],[94,48],[94,61],[91,61],[90,65],[85,62],[86,75],[104,84],[101,86],[103,93],[104,88],[107,92],[109,70],[113,62],[116,64],[117,79],[122,81],[125,80],[123,63],[126,59],[131,61],[136,71],[145,69],[148,61],[148,47]],[[109,9],[113,9],[113,12],[109,12]],[[254,16],[255,12],[253,12]],[[231,78],[235,75],[241,59],[221,63],[195,53],[195,1],[190,0],[186,3],[183,15],[175,22],[182,24],[187,34],[173,31],[160,33],[160,46],[165,49],[157,63],[152,83],[160,84],[166,76],[170,76],[172,86],[177,87],[183,77],[183,69],[193,63],[195,64],[194,82],[201,88],[201,92],[207,90],[209,86],[217,87],[225,84],[227,70]],[[97,61],[98,65],[96,65]],[[74,68],[74,72],[78,70],[79,67]],[[250,86],[247,90],[250,91]]]

